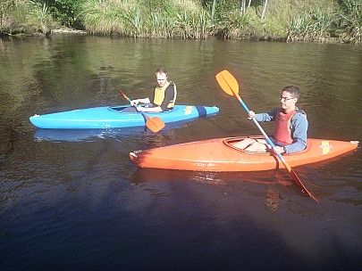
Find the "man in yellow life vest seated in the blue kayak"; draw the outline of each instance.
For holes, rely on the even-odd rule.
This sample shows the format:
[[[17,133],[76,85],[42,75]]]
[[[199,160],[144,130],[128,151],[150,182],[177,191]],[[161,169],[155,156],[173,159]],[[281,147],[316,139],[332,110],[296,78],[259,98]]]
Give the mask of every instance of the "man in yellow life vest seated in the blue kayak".
[[[173,109],[176,102],[176,85],[168,81],[168,73],[164,68],[156,70],[157,85],[154,88],[152,99],[143,98],[130,101],[130,105],[137,106],[139,103],[147,103],[146,106],[137,106],[137,111],[162,112]],[[151,101],[153,101],[151,103]]]

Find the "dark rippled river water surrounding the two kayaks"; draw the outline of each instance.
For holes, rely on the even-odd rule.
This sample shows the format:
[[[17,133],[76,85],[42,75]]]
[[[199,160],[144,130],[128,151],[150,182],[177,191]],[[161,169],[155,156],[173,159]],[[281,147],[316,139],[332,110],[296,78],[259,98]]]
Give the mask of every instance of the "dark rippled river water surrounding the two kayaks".
[[[220,112],[164,128],[37,130],[34,114],[146,97],[165,67],[179,104]],[[286,170],[140,169],[129,152],[259,135],[250,110],[301,90],[308,136],[362,141],[362,47],[54,36],[0,39],[0,270],[360,270],[362,152]],[[261,123],[267,133],[273,124]]]

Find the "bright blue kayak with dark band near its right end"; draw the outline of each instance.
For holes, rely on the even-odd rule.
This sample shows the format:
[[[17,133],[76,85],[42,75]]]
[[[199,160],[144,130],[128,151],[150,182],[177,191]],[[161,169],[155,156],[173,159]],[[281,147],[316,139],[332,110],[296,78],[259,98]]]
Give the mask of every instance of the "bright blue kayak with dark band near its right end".
[[[122,112],[130,105],[104,106],[73,111],[63,111],[30,117],[31,123],[45,129],[96,129],[143,127],[146,119],[140,112]],[[146,112],[151,117],[158,117],[164,123],[186,119],[198,119],[215,115],[219,111],[216,106],[175,105],[172,111]]]

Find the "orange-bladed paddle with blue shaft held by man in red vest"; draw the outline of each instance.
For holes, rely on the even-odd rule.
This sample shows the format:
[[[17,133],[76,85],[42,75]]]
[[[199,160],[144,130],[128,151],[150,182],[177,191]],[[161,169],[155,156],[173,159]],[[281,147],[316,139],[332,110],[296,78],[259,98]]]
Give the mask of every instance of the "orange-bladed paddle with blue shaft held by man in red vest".
[[[232,76],[230,71],[223,70],[223,71],[219,72],[218,74],[216,74],[215,77],[216,77],[216,80],[219,83],[219,85],[222,87],[223,91],[225,93],[227,93],[227,94],[234,95],[239,100],[239,102],[244,107],[244,109],[247,112],[249,112],[247,105],[240,98],[238,81]],[[274,145],[273,141],[269,138],[269,136],[267,136],[265,134],[264,129],[257,122],[257,119],[255,117],[253,117],[252,119],[253,119],[254,123],[257,125],[257,127],[259,128],[260,132],[265,137],[265,140],[268,142],[268,144],[270,144],[272,146],[272,148],[274,148],[275,145]],[[275,152],[275,153],[278,155],[279,159],[282,160],[282,163],[283,163],[284,167],[287,168],[287,170],[289,171],[290,176],[294,180],[294,183],[301,188],[301,192],[306,194],[307,196],[310,196],[315,201],[317,201],[316,198],[314,196],[312,196],[312,194],[307,191],[306,186],[304,186],[301,183],[301,181],[299,180],[299,177],[297,176],[297,174],[294,172],[294,170],[292,168],[290,168],[290,165],[282,157],[282,154],[279,153],[279,152]]]

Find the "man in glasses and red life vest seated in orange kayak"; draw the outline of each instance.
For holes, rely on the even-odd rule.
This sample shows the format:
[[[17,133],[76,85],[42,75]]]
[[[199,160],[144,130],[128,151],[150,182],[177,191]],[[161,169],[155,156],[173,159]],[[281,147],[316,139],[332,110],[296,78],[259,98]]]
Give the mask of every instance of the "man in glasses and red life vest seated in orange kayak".
[[[297,86],[285,86],[280,97],[280,108],[260,114],[248,112],[248,119],[254,117],[257,121],[275,121],[274,136],[271,137],[275,144],[274,152],[300,152],[307,146],[308,121],[306,113],[296,106],[299,96]],[[271,149],[265,139],[246,138],[235,146],[249,152],[269,152]]]

